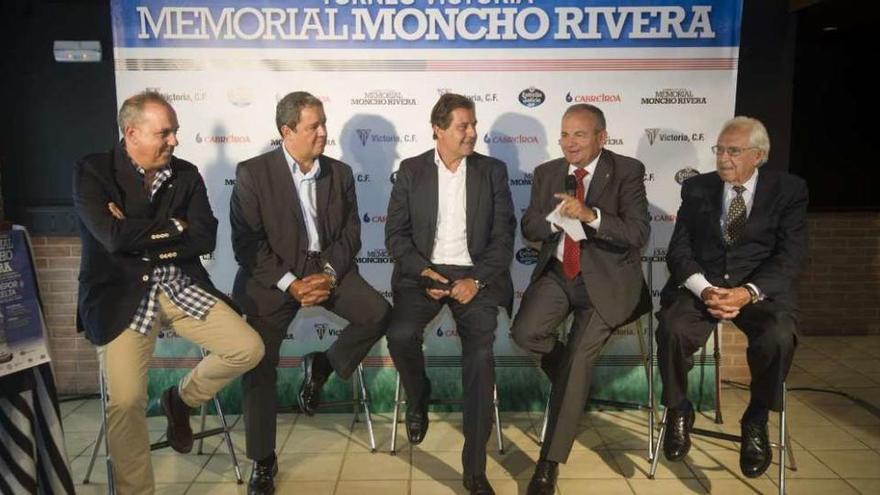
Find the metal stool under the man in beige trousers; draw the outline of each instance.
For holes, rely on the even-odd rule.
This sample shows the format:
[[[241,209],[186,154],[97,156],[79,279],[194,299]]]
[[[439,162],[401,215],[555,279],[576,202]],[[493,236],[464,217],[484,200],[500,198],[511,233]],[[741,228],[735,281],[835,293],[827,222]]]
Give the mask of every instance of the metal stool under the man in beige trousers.
[[[202,348],[200,349],[202,358],[207,356],[207,351]],[[95,447],[92,449],[92,457],[89,459],[89,467],[86,469],[86,474],[83,477],[83,484],[87,485],[89,483],[89,477],[92,475],[92,469],[95,467],[95,460],[98,457],[98,449],[101,446],[101,442],[103,440],[104,443],[104,452],[106,454],[106,463],[107,463],[107,493],[111,495],[116,494],[116,487],[113,482],[113,461],[110,458],[110,441],[105,435],[107,431],[107,401],[109,398],[109,394],[107,393],[107,386],[104,381],[104,370],[103,367],[98,368],[98,386],[101,389],[101,429],[98,430],[98,437],[95,439]],[[229,455],[232,457],[232,467],[235,469],[235,480],[238,484],[244,483],[244,480],[241,477],[241,467],[238,465],[238,457],[235,455],[235,447],[232,445],[232,437],[229,435],[230,430],[232,429],[229,426],[229,423],[226,422],[226,415],[223,413],[223,408],[220,406],[220,399],[217,396],[214,396],[214,408],[217,411],[217,417],[220,418],[220,424],[222,427],[212,428],[210,430],[205,429],[205,416],[207,415],[207,404],[202,404],[201,407],[201,417],[202,417],[202,431],[193,434],[193,439],[199,441],[199,448],[197,451],[198,455],[202,454],[202,446],[203,440],[206,437],[220,435],[224,436],[224,443],[226,444],[226,449],[229,451]],[[156,442],[150,444],[150,450],[158,450],[163,449],[171,445],[167,440],[163,440],[161,442]]]

